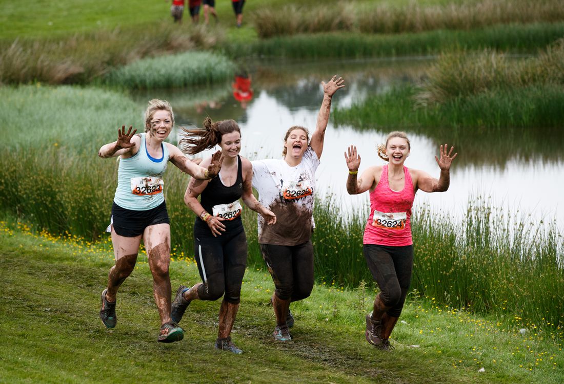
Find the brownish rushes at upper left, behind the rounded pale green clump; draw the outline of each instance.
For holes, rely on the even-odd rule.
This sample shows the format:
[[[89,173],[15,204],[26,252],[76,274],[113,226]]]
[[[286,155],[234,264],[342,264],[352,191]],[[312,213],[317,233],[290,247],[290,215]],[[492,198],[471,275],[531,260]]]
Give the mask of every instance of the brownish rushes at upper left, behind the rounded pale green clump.
[[[76,34],[65,39],[15,39],[0,42],[0,83],[88,83],[114,67],[150,55],[210,48],[223,40],[220,28],[149,25]]]

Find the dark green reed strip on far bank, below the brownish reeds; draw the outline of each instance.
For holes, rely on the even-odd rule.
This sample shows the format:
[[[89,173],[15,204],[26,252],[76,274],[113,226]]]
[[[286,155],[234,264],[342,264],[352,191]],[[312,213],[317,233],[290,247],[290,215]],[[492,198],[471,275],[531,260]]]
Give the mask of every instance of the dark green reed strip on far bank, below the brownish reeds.
[[[230,42],[222,50],[230,57],[266,56],[299,59],[320,57],[389,57],[438,55],[444,51],[493,50],[536,52],[564,35],[564,23],[495,25],[475,30],[434,30],[403,34],[335,32],[297,34]]]

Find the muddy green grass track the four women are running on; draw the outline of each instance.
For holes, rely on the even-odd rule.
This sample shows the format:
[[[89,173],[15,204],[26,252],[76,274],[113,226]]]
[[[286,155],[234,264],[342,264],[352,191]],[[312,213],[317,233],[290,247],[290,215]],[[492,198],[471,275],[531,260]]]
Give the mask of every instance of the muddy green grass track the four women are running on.
[[[383,353],[364,340],[364,314],[374,291],[315,285],[293,305],[293,341],[275,343],[272,281],[245,274],[233,340],[240,356],[213,349],[219,302],[194,302],[181,325],[184,340],[156,342],[158,315],[147,259],[118,294],[118,325],[98,319],[112,252],[104,244],[37,235],[0,225],[0,376],[5,382],[374,382],[559,383],[562,329],[521,324],[513,316],[483,318],[410,294]],[[173,288],[199,280],[190,260],[171,262]],[[329,286],[328,286],[329,285]],[[524,328],[524,334],[519,329]],[[418,347],[410,348],[408,346]],[[484,368],[485,372],[478,372]]]

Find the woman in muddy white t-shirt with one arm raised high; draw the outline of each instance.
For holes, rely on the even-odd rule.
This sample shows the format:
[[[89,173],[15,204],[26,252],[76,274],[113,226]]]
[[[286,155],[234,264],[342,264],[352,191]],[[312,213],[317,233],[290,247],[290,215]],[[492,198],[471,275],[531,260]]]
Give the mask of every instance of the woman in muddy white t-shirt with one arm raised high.
[[[253,163],[253,187],[258,200],[275,213],[276,224],[267,225],[258,216],[258,242],[276,290],[271,302],[276,315],[276,340],[292,340],[289,328],[294,324],[290,302],[310,296],[314,284],[314,253],[311,244],[315,192],[315,171],[323,152],[325,128],[329,121],[331,99],[345,86],[333,76],[323,86],[323,102],[315,132],[309,141],[307,128],[294,126],[284,137],[283,159],[256,160]]]

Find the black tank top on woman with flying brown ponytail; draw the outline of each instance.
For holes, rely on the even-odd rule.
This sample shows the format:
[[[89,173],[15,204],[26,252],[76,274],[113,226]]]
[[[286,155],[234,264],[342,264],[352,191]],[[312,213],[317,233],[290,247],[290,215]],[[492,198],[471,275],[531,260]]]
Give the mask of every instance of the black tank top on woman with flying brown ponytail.
[[[235,184],[230,187],[224,186],[219,178],[212,178],[206,188],[200,194],[200,204],[210,215],[213,215],[213,207],[219,204],[230,204],[239,200],[243,195],[243,166],[241,165],[241,157],[237,155],[237,179]],[[233,220],[222,221],[225,226],[226,231],[236,229],[237,227],[243,226],[241,221],[241,216],[234,218]],[[200,217],[196,218],[197,225],[205,225],[206,228],[208,224],[201,220]]]

